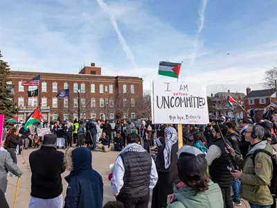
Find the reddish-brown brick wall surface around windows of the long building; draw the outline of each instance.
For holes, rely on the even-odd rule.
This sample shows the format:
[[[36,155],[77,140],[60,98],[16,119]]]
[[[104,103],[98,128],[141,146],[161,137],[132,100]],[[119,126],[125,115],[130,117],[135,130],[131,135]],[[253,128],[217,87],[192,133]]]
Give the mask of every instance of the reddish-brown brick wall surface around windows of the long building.
[[[19,116],[24,116],[24,119],[30,111],[32,111],[35,107],[28,107],[28,87],[24,87],[24,92],[19,92],[19,81],[29,80],[38,75],[38,72],[26,72],[26,71],[12,71],[10,79],[15,86],[15,96],[14,101],[18,105],[19,97],[24,97],[24,107],[20,107]],[[127,94],[124,96],[130,100],[132,98],[139,98],[143,96],[143,80],[138,77],[127,77],[127,76],[93,76],[87,74],[62,74],[62,73],[40,73],[40,89],[42,89],[42,83],[47,83],[47,92],[41,92],[41,98],[47,98],[47,106],[41,107],[42,114],[47,116],[47,120],[53,120],[53,114],[57,114],[60,119],[64,119],[64,114],[68,114],[70,119],[73,119],[73,114],[78,113],[78,107],[73,107],[73,98],[78,98],[78,93],[73,92],[74,83],[78,83],[79,87],[82,83],[85,84],[85,93],[80,93],[80,100],[84,99],[86,105],[82,107],[80,106],[80,112],[85,115],[86,119],[91,119],[91,114],[96,114],[96,118],[100,119],[100,113],[103,113],[109,117],[109,114],[114,114],[114,118],[116,116],[116,99],[123,99],[123,85],[127,85]],[[53,92],[53,83],[57,83],[57,91],[64,89],[64,83],[68,83],[69,86],[69,108],[64,107],[64,98],[57,98],[57,107],[53,107],[53,98],[57,95],[57,92]],[[95,85],[95,93],[91,93],[91,84]],[[100,93],[100,84],[103,87],[103,93]],[[113,93],[109,93],[109,85],[113,85]],[[130,94],[130,87],[134,85],[134,94]],[[105,91],[107,86],[108,92]],[[119,95],[118,95],[119,94]],[[96,99],[96,107],[91,107],[91,98]],[[100,98],[114,98],[114,107],[109,107],[109,104],[105,107],[100,107]],[[39,98],[37,98],[39,99]],[[40,103],[41,103],[40,99]],[[38,101],[39,105],[39,101]],[[128,109],[128,117],[131,117],[131,112],[134,112],[136,116],[139,116],[138,112],[136,112],[136,107],[130,107]]]

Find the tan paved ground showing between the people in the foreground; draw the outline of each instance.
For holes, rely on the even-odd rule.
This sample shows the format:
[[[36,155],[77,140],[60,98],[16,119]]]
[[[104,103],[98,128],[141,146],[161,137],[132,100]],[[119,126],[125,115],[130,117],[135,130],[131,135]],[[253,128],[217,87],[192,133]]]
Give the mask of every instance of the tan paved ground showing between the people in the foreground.
[[[24,171],[19,183],[19,192],[17,196],[17,206],[21,208],[27,208],[28,202],[30,200],[30,177],[31,173],[28,169],[29,155],[33,151],[33,148],[24,150],[23,155],[18,155],[18,166],[21,171]],[[109,175],[109,164],[115,162],[118,152],[111,151],[109,153],[102,153],[100,151],[93,152],[93,168],[102,175],[104,183],[104,204],[109,200],[115,200],[113,193],[111,192],[111,183],[107,179]],[[67,182],[64,177],[68,175],[69,172],[66,171],[62,174],[62,183],[64,187],[63,196],[66,196]],[[7,199],[10,207],[13,206],[13,201],[15,198],[15,187],[17,186],[17,177],[8,177],[8,189],[7,189]],[[103,204],[103,205],[104,205]],[[244,205],[242,208],[246,208]],[[249,207],[249,206],[248,206]]]

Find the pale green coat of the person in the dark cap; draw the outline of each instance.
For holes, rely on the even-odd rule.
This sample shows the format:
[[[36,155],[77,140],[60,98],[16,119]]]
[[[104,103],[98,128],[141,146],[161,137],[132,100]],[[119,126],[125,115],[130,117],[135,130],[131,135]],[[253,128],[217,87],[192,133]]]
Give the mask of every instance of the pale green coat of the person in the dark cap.
[[[223,208],[222,192],[218,184],[210,180],[208,190],[195,195],[190,187],[175,188],[177,202],[172,202],[167,208]]]

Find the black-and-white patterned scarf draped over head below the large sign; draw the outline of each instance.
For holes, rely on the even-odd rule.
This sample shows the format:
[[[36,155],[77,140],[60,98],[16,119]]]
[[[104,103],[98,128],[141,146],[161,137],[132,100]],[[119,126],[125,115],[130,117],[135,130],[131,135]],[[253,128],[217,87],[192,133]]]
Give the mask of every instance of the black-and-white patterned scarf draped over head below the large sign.
[[[165,160],[165,168],[167,169],[170,166],[171,163],[171,149],[173,144],[175,144],[178,141],[178,134],[175,128],[169,127],[166,128],[166,146],[163,150],[163,157]]]

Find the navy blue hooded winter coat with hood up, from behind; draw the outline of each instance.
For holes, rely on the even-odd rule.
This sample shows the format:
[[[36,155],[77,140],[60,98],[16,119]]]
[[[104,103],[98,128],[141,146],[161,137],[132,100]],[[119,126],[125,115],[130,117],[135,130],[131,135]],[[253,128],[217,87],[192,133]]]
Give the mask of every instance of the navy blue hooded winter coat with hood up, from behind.
[[[103,182],[101,175],[91,166],[89,148],[75,148],[72,157],[66,153],[66,164],[71,173],[65,177],[66,190],[64,208],[102,208]]]

